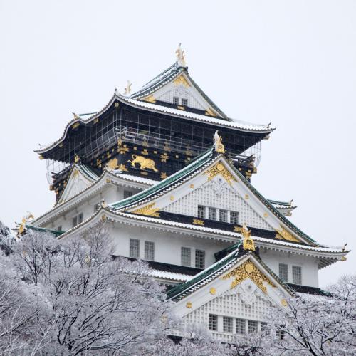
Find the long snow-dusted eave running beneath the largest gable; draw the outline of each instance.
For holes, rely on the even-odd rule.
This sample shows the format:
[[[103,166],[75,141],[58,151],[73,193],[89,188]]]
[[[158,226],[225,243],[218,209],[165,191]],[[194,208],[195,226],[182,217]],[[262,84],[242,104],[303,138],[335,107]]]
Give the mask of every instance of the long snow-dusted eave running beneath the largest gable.
[[[125,213],[123,211],[115,211],[108,207],[100,208],[88,219],[83,221],[83,223],[75,226],[74,228],[66,231],[64,234],[60,236],[61,239],[64,237],[70,236],[74,233],[80,233],[85,230],[85,225],[88,222],[95,219],[98,216],[105,216],[106,220],[126,223],[126,224],[135,224],[137,226],[145,226],[151,229],[164,229],[167,231],[174,231],[179,234],[189,234],[195,235],[199,237],[203,237],[205,239],[216,239],[219,241],[229,241],[232,243],[236,243],[241,240],[241,234],[239,232],[234,231],[225,231],[219,229],[212,229],[209,227],[194,225],[194,224],[184,224],[179,223],[177,221],[170,221],[164,219],[157,219],[152,216],[142,216],[137,214]],[[290,251],[291,253],[298,254],[310,254],[312,256],[317,256],[320,258],[333,258],[333,259],[341,259],[350,251],[343,251],[340,247],[335,248],[327,248],[327,247],[314,247],[300,244],[293,244],[293,242],[288,241],[280,241],[273,239],[266,239],[263,237],[253,236],[253,240],[255,241],[257,246],[271,249],[271,250],[281,250],[281,251]]]

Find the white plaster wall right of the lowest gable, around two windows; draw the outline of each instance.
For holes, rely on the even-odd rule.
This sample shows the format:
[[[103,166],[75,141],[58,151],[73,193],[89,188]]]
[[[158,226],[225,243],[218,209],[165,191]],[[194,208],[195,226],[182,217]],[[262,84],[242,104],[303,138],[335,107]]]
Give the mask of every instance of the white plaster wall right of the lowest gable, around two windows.
[[[293,283],[292,266],[302,268],[302,285],[318,287],[318,260],[315,257],[295,255],[282,251],[260,251],[261,260],[279,275],[279,263],[288,265],[288,283]]]

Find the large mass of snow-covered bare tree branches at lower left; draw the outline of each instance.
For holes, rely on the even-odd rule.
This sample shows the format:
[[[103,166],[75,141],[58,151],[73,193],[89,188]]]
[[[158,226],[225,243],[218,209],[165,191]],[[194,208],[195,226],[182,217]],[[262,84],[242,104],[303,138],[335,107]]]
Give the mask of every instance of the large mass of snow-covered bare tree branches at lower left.
[[[0,256],[4,355],[231,355],[195,327],[180,344],[169,340],[179,320],[164,288],[146,263],[112,258],[108,241],[98,224],[63,241],[28,230],[8,246]]]

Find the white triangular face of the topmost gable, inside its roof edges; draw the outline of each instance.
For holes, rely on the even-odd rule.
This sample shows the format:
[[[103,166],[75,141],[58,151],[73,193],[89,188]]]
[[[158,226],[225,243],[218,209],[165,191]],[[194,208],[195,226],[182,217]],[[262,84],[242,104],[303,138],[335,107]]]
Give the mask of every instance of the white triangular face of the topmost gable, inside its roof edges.
[[[164,101],[165,103],[175,104],[182,108],[189,107],[197,110],[204,110],[208,115],[213,117],[221,116],[211,108],[209,103],[203,95],[199,93],[197,88],[194,87],[185,73],[181,73],[177,78],[174,78],[147,98],[143,98],[143,100],[153,103],[155,100]]]

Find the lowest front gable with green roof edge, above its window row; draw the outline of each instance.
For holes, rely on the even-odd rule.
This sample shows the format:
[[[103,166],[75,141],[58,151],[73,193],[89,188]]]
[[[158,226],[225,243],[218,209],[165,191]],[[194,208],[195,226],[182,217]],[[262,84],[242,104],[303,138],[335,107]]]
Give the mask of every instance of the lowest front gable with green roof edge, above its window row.
[[[235,308],[239,314],[239,305],[249,308],[256,303],[274,303],[286,305],[286,298],[293,291],[286,286],[254,253],[241,249],[241,246],[222,261],[206,268],[192,280],[172,288],[167,293],[175,302],[174,312],[186,316],[199,312],[206,305],[218,303],[220,313],[229,315]],[[235,298],[234,298],[235,297]],[[226,303],[232,301],[231,305]],[[226,311],[224,312],[224,308]],[[209,308],[212,310],[212,308]]]

